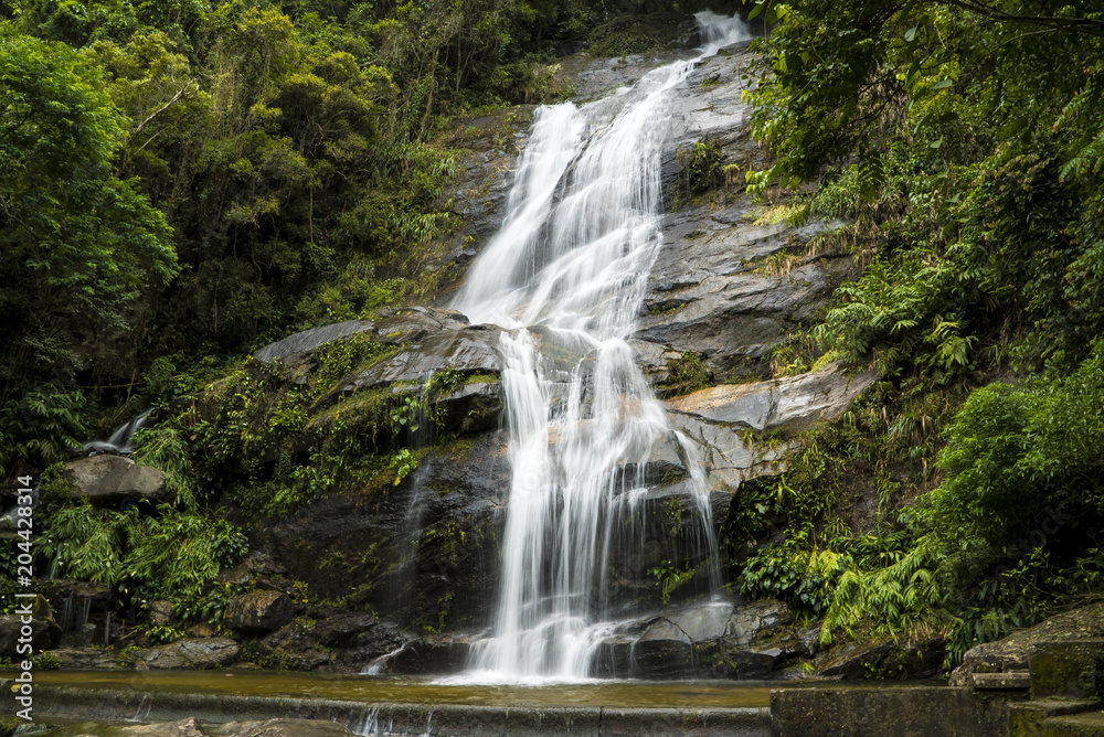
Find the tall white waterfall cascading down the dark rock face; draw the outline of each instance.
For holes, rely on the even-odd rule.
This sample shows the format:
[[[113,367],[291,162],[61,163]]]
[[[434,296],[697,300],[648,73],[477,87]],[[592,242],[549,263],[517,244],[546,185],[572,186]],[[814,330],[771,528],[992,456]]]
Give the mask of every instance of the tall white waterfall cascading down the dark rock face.
[[[495,630],[474,647],[469,680],[585,679],[612,631],[603,596],[615,522],[643,496],[654,442],[670,435],[626,342],[662,239],[670,93],[701,58],[750,38],[739,19],[698,18],[702,56],[606,99],[537,111],[502,227],[454,303],[509,329],[502,573]],[[680,442],[715,553],[704,473]]]

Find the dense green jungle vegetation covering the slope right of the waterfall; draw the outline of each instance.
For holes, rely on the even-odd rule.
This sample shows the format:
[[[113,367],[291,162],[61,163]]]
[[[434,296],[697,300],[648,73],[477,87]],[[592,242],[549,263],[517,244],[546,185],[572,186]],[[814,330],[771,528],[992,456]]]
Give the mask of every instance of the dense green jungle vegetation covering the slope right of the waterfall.
[[[789,526],[743,586],[824,615],[824,640],[949,629],[954,662],[1104,584],[1104,12],[753,12],[773,24],[749,96],[776,159],[750,185],[796,188],[797,222],[846,222],[818,247],[863,266],[804,340],[882,381],[745,490]],[[863,484],[881,503],[860,535],[840,508]]]

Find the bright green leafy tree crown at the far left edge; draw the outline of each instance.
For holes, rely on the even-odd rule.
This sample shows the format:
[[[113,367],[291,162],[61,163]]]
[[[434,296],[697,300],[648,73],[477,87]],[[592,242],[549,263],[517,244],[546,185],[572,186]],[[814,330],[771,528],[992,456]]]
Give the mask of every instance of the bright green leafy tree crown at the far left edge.
[[[0,109],[7,404],[43,378],[73,381],[85,345],[121,355],[141,289],[177,264],[164,215],[113,173],[124,119],[83,56],[0,26]]]

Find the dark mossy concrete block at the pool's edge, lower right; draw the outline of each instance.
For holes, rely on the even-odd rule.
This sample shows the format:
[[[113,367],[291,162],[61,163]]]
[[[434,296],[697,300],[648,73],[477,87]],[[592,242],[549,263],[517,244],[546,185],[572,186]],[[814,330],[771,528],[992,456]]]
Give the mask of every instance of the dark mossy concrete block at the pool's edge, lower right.
[[[772,734],[784,737],[1008,735],[1007,702],[951,686],[776,688]]]

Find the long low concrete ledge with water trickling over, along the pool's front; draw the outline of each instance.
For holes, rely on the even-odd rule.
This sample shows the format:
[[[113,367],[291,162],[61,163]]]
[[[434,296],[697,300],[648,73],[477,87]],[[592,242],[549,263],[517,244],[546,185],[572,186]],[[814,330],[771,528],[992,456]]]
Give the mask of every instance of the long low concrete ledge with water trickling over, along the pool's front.
[[[123,688],[38,686],[34,711],[43,717],[95,722],[201,722],[272,718],[329,719],[359,734],[522,737],[582,735],[628,737],[769,737],[762,708],[498,707],[455,704],[364,704],[319,698],[221,694],[142,693]]]

